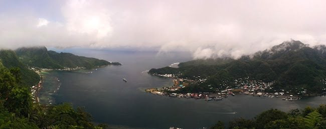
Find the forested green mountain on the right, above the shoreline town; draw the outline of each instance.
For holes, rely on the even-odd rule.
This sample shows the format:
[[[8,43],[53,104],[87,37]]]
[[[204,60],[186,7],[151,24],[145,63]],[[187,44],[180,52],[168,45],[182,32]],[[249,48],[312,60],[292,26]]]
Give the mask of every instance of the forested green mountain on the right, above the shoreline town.
[[[324,51],[326,51],[324,45],[309,47],[301,41],[290,40],[253,55],[243,55],[239,59],[191,60],[180,63],[179,68],[152,68],[149,73],[171,73],[190,79],[200,76],[207,79],[197,85],[197,88],[203,91],[211,91],[207,87],[210,84],[214,88],[219,87],[218,85],[224,83],[224,80],[228,80],[228,86],[235,86],[234,79],[250,76],[251,80],[275,81],[273,90],[287,89],[297,92],[304,88],[316,93],[326,87],[321,81],[326,78],[326,52]]]

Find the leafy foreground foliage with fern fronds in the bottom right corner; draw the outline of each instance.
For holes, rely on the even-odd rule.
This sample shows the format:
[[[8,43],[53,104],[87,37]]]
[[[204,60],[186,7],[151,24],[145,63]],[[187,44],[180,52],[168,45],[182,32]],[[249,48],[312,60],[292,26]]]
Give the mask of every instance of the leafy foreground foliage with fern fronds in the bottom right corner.
[[[222,121],[218,121],[211,128],[225,128]],[[269,109],[261,112],[253,119],[237,118],[229,122],[229,128],[326,128],[326,105],[317,108],[292,109],[283,112]]]

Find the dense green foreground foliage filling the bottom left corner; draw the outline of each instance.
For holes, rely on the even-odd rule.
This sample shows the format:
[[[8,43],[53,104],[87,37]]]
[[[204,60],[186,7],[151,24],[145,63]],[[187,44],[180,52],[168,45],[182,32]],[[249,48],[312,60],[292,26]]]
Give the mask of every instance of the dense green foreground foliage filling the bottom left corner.
[[[105,124],[95,126],[91,115],[81,107],[74,109],[68,103],[33,104],[30,89],[19,85],[17,76],[0,63],[0,128],[105,127]]]

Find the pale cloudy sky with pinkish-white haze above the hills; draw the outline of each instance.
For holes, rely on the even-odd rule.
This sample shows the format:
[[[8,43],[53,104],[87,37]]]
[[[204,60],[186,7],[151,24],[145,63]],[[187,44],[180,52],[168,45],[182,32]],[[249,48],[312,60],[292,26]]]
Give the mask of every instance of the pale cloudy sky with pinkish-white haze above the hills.
[[[0,47],[191,51],[238,57],[326,44],[325,0],[0,0]]]

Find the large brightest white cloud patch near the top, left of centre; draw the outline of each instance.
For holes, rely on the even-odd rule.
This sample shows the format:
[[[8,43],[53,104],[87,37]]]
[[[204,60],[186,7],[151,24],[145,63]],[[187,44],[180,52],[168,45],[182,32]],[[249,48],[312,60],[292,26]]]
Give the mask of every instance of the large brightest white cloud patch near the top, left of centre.
[[[102,38],[112,32],[109,12],[97,2],[69,0],[63,6],[62,12],[66,27],[71,33],[86,33]]]

